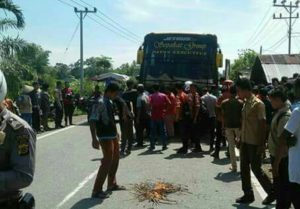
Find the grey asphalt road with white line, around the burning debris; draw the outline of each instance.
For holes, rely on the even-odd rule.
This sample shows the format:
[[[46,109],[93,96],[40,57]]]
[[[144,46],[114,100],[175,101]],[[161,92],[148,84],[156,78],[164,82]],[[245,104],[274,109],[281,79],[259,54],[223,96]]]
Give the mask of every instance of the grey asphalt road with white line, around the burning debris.
[[[257,191],[256,202],[250,206],[234,203],[242,195],[240,176],[229,172],[224,152],[223,159],[213,161],[208,154],[177,155],[174,149],[179,146],[173,143],[169,150],[154,153],[146,149],[133,151],[121,160],[118,172],[119,184],[129,190],[115,192],[102,202],[90,199],[101,152],[91,148],[88,126],[71,126],[39,136],[36,175],[26,191],[34,194],[37,209],[266,208],[261,205],[262,197]],[[208,147],[204,145],[204,149]],[[145,180],[186,185],[190,193],[172,195],[171,199],[177,201],[173,205],[139,203],[130,188]]]

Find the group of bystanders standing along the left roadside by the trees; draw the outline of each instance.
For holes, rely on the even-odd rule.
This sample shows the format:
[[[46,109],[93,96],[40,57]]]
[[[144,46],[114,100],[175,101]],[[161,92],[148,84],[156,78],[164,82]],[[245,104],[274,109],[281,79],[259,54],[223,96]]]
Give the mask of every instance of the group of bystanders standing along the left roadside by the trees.
[[[52,108],[54,100],[54,109]],[[37,132],[50,131],[48,121],[52,113],[55,118],[55,128],[72,125],[75,110],[75,94],[69,82],[58,81],[52,94],[47,83],[33,82],[32,86],[24,85],[15,101],[5,98],[4,104],[8,110],[19,115]],[[62,124],[65,114],[65,124]]]

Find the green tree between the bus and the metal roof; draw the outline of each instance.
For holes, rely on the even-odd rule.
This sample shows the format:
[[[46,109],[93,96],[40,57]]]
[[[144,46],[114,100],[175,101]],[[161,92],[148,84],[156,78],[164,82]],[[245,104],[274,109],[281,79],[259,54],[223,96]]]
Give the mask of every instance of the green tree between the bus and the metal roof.
[[[231,67],[230,78],[236,80],[242,71],[249,71],[258,54],[251,49],[241,50],[238,59],[236,59]]]

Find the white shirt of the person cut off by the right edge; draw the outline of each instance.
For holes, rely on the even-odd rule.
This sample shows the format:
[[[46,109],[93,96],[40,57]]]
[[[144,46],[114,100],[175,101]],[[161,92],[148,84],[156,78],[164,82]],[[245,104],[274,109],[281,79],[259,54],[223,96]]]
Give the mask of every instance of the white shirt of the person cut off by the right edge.
[[[289,178],[300,184],[300,108],[293,111],[285,129],[297,138],[296,146],[289,149]]]

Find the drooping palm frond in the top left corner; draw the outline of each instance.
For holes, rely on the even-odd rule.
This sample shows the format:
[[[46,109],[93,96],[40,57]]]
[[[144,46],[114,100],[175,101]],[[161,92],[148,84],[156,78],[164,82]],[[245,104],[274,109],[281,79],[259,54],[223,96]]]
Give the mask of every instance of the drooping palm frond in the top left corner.
[[[7,17],[0,19],[0,31],[4,31],[8,28],[24,28],[24,16],[18,5],[14,4],[11,0],[0,0],[0,9],[3,9],[5,14],[10,12],[15,16],[15,19]]]

